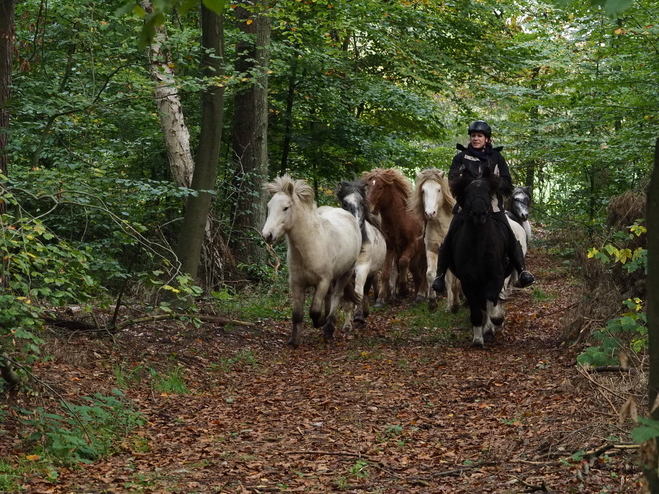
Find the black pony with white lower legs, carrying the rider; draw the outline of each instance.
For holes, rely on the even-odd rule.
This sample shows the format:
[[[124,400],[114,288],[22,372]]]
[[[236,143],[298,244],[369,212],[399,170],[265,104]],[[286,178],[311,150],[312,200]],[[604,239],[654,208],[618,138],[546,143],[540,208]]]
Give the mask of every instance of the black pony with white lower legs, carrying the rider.
[[[499,293],[513,267],[508,261],[508,229],[492,217],[492,198],[500,180],[485,168],[482,177],[463,175],[451,181],[451,191],[462,208],[462,226],[453,237],[451,271],[460,279],[471,311],[473,345],[483,346],[485,337],[504,323]]]

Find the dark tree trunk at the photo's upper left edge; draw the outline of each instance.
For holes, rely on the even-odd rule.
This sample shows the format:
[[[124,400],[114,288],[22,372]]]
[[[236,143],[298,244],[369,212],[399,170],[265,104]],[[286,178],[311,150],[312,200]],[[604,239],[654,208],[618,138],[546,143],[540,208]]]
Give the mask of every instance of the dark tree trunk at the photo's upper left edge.
[[[16,0],[0,0],[0,173],[7,176],[9,98],[11,97]]]

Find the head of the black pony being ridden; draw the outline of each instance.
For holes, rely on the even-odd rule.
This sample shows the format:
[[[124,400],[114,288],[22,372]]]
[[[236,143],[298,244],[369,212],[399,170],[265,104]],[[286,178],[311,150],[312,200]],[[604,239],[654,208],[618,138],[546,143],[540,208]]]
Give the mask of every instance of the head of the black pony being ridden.
[[[462,210],[476,225],[482,226],[492,213],[492,198],[496,196],[500,184],[499,176],[485,167],[480,177],[463,173],[452,180],[450,186]]]

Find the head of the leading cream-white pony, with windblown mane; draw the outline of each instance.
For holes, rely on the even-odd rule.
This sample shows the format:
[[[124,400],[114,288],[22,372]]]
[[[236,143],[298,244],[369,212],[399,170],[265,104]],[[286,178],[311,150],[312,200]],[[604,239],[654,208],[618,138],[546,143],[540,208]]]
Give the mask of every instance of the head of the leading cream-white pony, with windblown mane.
[[[304,180],[293,180],[289,175],[276,178],[264,185],[272,194],[268,202],[268,218],[261,235],[274,244],[295,225],[295,215],[300,207],[313,207],[313,189]]]

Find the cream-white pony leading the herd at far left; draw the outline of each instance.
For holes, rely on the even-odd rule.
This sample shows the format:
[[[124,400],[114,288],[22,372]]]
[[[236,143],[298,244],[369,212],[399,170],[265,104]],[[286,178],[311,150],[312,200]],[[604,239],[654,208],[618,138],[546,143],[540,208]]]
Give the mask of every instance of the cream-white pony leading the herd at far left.
[[[341,208],[317,207],[313,190],[304,180],[284,175],[265,188],[272,198],[261,234],[270,244],[286,236],[288,244],[293,298],[293,330],[288,344],[296,348],[300,344],[305,292],[310,287],[315,291],[309,315],[314,327],[323,326],[323,337],[329,340],[334,335],[335,312],[344,290],[352,295],[353,302],[357,300],[348,283],[361,249],[359,224]]]

